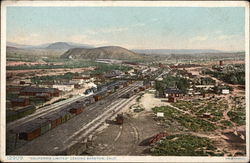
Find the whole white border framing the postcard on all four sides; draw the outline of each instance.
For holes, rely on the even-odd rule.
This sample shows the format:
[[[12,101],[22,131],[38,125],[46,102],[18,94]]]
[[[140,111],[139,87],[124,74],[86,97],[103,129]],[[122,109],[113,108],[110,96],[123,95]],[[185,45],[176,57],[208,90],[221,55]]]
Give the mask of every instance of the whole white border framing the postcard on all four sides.
[[[112,7],[245,7],[245,52],[246,52],[246,157],[174,157],[174,156],[97,156],[115,160],[84,160],[90,156],[5,156],[5,86],[6,86],[6,7],[8,6],[112,6]],[[1,141],[0,161],[8,162],[248,162],[249,161],[249,3],[246,1],[4,1],[1,5]],[[44,158],[34,160],[32,158]],[[18,160],[21,159],[21,160]],[[75,160],[76,159],[76,160]]]

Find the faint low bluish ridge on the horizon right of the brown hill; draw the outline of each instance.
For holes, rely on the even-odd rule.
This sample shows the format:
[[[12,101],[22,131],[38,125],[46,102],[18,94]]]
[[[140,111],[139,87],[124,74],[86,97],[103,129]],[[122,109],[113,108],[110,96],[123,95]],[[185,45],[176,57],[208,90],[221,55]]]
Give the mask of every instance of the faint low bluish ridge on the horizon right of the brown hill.
[[[201,53],[222,53],[214,49],[132,49],[131,51],[143,54],[201,54]]]

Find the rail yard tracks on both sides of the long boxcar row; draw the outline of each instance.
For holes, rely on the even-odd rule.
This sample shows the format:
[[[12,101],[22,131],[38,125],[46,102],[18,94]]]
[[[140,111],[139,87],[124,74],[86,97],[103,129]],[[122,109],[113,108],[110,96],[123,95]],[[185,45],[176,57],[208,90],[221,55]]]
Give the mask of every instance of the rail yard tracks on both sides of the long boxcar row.
[[[49,134],[46,133],[45,135],[40,136],[40,134],[42,134],[42,133],[40,133],[40,134],[38,133],[37,135],[36,134],[34,135],[33,131],[30,133],[22,131],[21,126],[25,126],[25,125],[27,126],[30,123],[35,124],[36,121],[39,123],[38,119],[46,119],[46,115],[53,115],[55,113],[58,113],[58,112],[60,112],[58,110],[63,110],[63,108],[67,107],[68,105],[72,105],[72,104],[69,104],[68,102],[64,102],[63,104],[60,104],[59,106],[58,105],[54,106],[54,108],[50,107],[49,111],[46,111],[46,109],[44,109],[40,112],[37,112],[35,115],[32,115],[32,117],[24,118],[24,119],[19,120],[17,123],[15,122],[15,123],[10,124],[10,126],[8,126],[8,129],[10,130],[11,133],[14,132],[15,134],[18,134],[19,138],[20,138],[21,134],[26,134],[26,137],[24,136],[24,139],[28,139],[27,134],[31,135],[31,139],[35,139],[36,137],[40,136],[37,139],[35,139],[32,142],[25,145],[24,149],[20,148],[19,149],[20,151],[23,151],[23,152],[26,151],[27,154],[39,154],[39,153],[40,154],[52,154],[52,153],[57,154],[57,153],[62,152],[63,151],[62,149],[65,150],[65,149],[71,147],[72,145],[74,145],[74,142],[82,141],[83,138],[87,137],[96,128],[98,128],[98,126],[100,126],[100,124],[104,123],[107,118],[109,118],[110,116],[119,112],[119,110],[121,108],[123,108],[128,101],[131,100],[131,99],[120,98],[120,96],[122,96],[123,94],[126,94],[129,91],[134,91],[137,88],[139,88],[140,86],[142,86],[142,83],[135,82],[127,87],[118,88],[116,90],[116,92],[111,94],[110,96],[108,96],[106,98],[103,97],[104,99],[102,99],[102,100],[98,99],[97,102],[95,102],[92,105],[91,105],[91,103],[88,104],[89,106],[86,106],[86,107],[84,107],[83,110],[81,110],[81,112],[83,112],[82,114],[75,116],[72,120],[70,119],[65,124],[57,126],[55,129],[51,130],[51,132],[49,132]],[[91,99],[93,97],[96,97],[97,95],[98,95],[98,93],[95,95],[89,96],[89,97],[76,98],[76,99],[73,99],[71,102],[73,103],[73,101],[76,101],[74,104],[78,104],[78,103],[81,103],[81,102],[86,101],[88,99]],[[59,123],[62,123],[62,122],[59,122]],[[16,126],[16,124],[18,124],[18,126]],[[32,124],[30,124],[30,125],[32,126]],[[42,124],[40,124],[40,126],[41,125]],[[15,127],[13,128],[12,126],[15,126]],[[70,127],[70,126],[72,126],[72,127]],[[76,126],[82,127],[82,128],[78,128]],[[37,127],[37,128],[39,128],[39,127]],[[70,130],[63,131],[64,134],[69,134],[69,135],[62,134],[61,135],[62,137],[59,138],[59,135],[57,134],[55,139],[57,139],[57,140],[60,139],[60,140],[62,140],[62,142],[51,140],[51,136],[54,134],[54,132],[60,133],[60,130],[63,130],[62,128],[63,129],[65,129],[65,128],[70,129],[71,131]],[[27,130],[27,128],[25,128],[25,130]],[[55,143],[58,142],[58,144],[49,143],[52,145],[50,150],[48,150],[49,149],[47,146],[48,144],[46,144],[44,147],[45,153],[41,153],[40,150],[42,148],[40,145],[39,145],[39,149],[40,149],[39,151],[34,150],[34,149],[38,149],[38,147],[36,147],[33,143],[35,143],[37,141],[37,142],[39,142],[38,144],[40,144],[41,143],[40,139],[43,139],[43,138],[46,142],[46,140],[48,140],[48,137],[46,138],[46,136],[49,136],[50,137],[49,139],[51,141],[53,141]],[[67,140],[64,140],[63,138],[67,138]],[[15,142],[15,143],[17,143],[16,145],[18,146],[19,142]],[[60,144],[61,145],[65,144],[65,145],[62,147]],[[31,146],[29,146],[29,145],[32,146],[32,149],[30,148]],[[59,151],[54,150],[54,147],[57,147],[57,146],[59,146],[59,148],[58,148],[58,149],[60,149]],[[30,150],[27,150],[27,149],[30,149]],[[19,151],[19,150],[17,150],[17,151]],[[35,152],[35,153],[32,153],[32,152]],[[48,152],[48,153],[46,153],[46,152]]]

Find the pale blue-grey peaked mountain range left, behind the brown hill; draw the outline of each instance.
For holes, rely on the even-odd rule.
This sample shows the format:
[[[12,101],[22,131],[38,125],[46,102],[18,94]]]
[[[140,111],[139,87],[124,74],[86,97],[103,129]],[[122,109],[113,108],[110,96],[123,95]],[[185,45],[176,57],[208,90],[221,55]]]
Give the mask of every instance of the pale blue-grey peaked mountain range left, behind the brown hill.
[[[55,42],[55,43],[47,43],[41,45],[23,45],[23,44],[7,42],[7,46],[22,48],[22,49],[51,49],[51,50],[68,50],[71,48],[93,48],[93,46],[91,45],[78,44],[72,42]]]

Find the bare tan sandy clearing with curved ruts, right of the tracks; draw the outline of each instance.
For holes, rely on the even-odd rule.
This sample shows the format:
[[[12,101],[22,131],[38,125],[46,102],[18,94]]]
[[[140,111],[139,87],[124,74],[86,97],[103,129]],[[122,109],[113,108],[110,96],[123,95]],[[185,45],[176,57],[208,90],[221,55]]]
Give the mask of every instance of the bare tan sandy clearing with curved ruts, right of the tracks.
[[[137,97],[140,97],[138,95]],[[131,101],[121,112],[125,119],[123,125],[115,124],[115,118],[99,130],[90,143],[87,154],[90,155],[150,155],[151,146],[142,145],[142,141],[160,132],[175,132],[171,126],[162,126],[155,120],[153,107],[166,105],[166,99],[154,97],[154,90],[141,96],[139,102],[136,98]],[[139,105],[144,110],[134,112],[131,106]],[[177,128],[177,127],[176,127]]]

